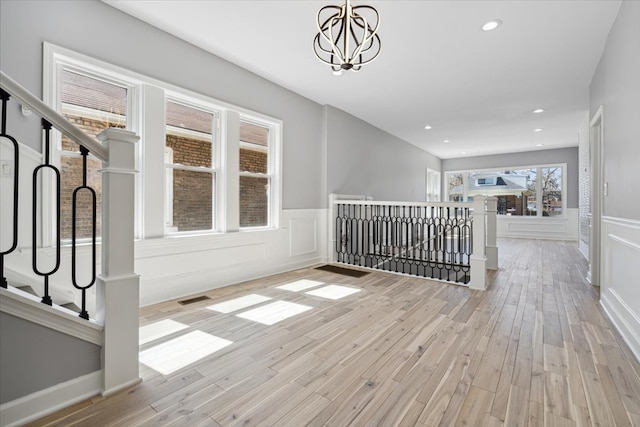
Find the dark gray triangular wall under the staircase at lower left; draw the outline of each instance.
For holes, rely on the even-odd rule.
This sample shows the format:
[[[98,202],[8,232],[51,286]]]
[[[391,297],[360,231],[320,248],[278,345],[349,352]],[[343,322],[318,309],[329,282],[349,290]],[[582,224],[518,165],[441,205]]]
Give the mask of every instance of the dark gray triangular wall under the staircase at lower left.
[[[99,371],[100,347],[0,313],[0,404]]]

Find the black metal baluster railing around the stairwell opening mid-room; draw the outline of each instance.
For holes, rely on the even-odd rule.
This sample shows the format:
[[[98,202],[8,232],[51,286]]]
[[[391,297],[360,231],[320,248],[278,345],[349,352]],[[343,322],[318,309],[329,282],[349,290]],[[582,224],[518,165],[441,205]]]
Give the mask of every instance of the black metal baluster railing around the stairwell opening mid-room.
[[[335,212],[337,262],[469,282],[470,206],[341,201]]]

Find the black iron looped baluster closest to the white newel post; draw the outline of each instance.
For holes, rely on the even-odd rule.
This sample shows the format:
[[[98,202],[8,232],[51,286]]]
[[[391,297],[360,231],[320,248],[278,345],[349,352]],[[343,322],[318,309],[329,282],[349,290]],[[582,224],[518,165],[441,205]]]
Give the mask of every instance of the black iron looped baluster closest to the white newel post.
[[[83,319],[89,319],[89,313],[87,312],[87,289],[91,288],[96,281],[96,222],[97,222],[97,198],[96,192],[93,188],[87,185],[87,156],[89,150],[82,145],[80,146],[80,154],[82,155],[82,185],[73,190],[73,207],[71,216],[71,281],[73,286],[82,291],[82,310],[79,316]],[[91,197],[91,277],[89,283],[82,286],[78,284],[77,279],[77,244],[76,244],[76,231],[77,231],[77,212],[78,212],[78,194],[81,191],[86,191]]]

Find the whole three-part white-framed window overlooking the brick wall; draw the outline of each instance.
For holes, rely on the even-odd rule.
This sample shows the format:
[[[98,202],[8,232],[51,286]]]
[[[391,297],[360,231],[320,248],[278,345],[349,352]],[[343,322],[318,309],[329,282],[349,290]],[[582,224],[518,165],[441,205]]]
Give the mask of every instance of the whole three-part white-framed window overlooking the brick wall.
[[[107,127],[140,135],[138,236],[278,227],[281,121],[49,43],[44,75],[45,102],[90,136]],[[81,180],[82,158],[76,144],[66,138],[56,142],[52,160],[62,173],[62,236],[70,239],[71,194]],[[101,167],[89,157],[89,185],[97,192],[98,210]],[[47,197],[51,200],[43,201],[43,210],[50,213],[54,203]],[[52,236],[51,228],[43,225],[43,235]],[[89,237],[89,218],[80,218],[76,229]]]

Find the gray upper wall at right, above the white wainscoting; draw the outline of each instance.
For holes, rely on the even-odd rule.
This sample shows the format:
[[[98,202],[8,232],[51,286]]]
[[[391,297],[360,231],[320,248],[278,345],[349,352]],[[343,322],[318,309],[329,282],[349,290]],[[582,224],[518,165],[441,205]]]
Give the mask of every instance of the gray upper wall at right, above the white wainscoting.
[[[640,2],[622,2],[589,101],[591,118],[604,106],[604,215],[640,220]]]

